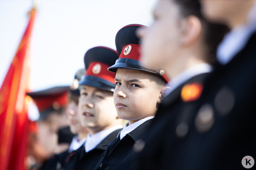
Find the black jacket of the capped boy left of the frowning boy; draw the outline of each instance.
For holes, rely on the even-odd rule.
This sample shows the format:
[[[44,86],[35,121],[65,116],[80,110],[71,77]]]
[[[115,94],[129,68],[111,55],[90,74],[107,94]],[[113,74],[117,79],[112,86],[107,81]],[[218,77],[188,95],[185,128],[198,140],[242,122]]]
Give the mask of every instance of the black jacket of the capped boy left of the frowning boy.
[[[99,143],[96,148],[89,152],[85,152],[84,145],[82,145],[78,150],[71,153],[71,155],[66,160],[66,165],[64,169],[83,169],[92,170],[102,153],[107,149],[107,146],[103,146],[116,139],[116,136],[122,129],[117,129],[111,134],[109,134],[101,143]]]

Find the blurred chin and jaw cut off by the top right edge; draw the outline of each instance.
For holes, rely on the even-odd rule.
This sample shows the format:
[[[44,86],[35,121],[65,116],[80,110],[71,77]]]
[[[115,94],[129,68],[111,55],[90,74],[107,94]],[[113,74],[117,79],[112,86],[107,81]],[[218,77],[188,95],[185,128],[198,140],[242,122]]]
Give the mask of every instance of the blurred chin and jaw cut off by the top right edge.
[[[202,12],[213,22],[230,28],[244,24],[255,0],[200,0]]]

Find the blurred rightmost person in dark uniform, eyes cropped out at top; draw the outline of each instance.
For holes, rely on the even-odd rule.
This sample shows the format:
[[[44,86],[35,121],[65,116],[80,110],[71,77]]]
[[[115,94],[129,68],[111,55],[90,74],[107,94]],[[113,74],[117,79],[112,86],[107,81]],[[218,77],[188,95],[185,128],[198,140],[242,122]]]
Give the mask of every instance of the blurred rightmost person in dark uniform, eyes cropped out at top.
[[[252,160],[245,156],[256,157],[256,2],[202,0],[201,4],[207,19],[226,23],[231,31],[218,47],[219,65],[204,90],[201,107],[208,104],[213,109],[214,125],[204,136],[210,147],[194,148],[206,158],[198,164],[201,169],[241,169],[242,160],[244,167],[251,168]]]

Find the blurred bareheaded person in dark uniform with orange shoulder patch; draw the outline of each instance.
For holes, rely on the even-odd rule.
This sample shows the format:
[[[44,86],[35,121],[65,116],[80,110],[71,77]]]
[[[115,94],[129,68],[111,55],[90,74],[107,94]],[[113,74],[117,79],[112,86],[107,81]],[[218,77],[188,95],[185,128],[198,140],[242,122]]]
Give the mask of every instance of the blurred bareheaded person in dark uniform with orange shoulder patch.
[[[171,91],[139,143],[136,169],[209,169],[197,163],[211,158],[198,149],[210,148],[211,141],[203,137],[214,125],[213,113],[208,105],[196,117],[193,111],[201,107],[204,82],[213,70],[209,63],[227,29],[206,21],[196,0],[159,0],[154,18],[148,29],[138,31],[142,61],[148,67],[162,66]],[[201,137],[191,142],[194,136]]]

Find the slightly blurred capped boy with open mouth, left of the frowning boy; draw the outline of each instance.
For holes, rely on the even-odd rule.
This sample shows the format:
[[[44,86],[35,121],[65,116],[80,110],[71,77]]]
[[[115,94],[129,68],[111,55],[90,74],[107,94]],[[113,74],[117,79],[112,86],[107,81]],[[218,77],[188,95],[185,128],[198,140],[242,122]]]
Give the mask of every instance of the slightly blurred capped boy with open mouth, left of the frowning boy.
[[[85,53],[79,116],[89,133],[85,144],[67,158],[65,169],[92,170],[107,148],[104,144],[113,141],[123,128],[113,101],[115,73],[107,71],[117,58],[116,51],[107,47],[94,47]]]

